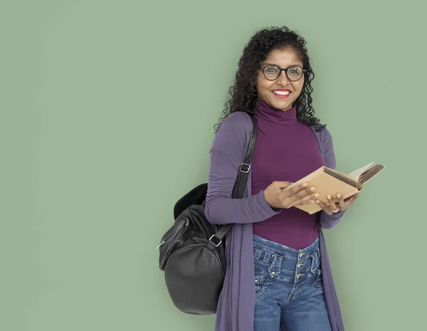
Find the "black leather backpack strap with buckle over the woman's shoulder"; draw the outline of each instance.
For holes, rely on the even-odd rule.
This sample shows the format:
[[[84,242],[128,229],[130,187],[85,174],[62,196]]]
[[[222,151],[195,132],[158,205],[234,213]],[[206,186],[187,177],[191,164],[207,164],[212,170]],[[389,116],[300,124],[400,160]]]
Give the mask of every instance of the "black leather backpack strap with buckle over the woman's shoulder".
[[[246,156],[238,169],[238,176],[233,190],[233,199],[241,199],[243,197],[246,189],[246,183],[248,182],[249,170],[251,169],[253,151],[255,150],[256,139],[258,137],[258,121],[256,120],[255,115],[251,116],[251,120],[253,125],[251,138],[249,139],[248,149],[246,149]],[[233,224],[221,226],[221,228],[219,228],[219,230],[209,238],[209,241],[214,243],[216,247],[221,245],[221,241],[224,236],[226,236],[231,226],[233,226]]]

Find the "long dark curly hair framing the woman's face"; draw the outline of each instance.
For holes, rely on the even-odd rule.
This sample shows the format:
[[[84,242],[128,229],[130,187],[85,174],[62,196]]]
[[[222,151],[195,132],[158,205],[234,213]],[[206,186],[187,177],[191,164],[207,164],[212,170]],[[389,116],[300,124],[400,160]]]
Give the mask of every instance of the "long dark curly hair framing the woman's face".
[[[256,90],[256,81],[260,63],[267,58],[270,51],[285,47],[291,47],[300,56],[302,65],[306,69],[304,85],[299,97],[295,100],[297,120],[307,125],[313,125],[317,130],[321,127],[326,127],[326,125],[320,124],[320,119],[315,117],[315,110],[312,107],[311,93],[313,88],[311,83],[315,78],[315,73],[310,65],[306,41],[286,26],[281,28],[272,26],[257,31],[246,44],[243,49],[243,55],[238,61],[235,85],[229,89],[231,99],[225,104],[226,108],[223,110],[223,117],[220,118],[220,122],[233,112],[255,114],[259,98]]]

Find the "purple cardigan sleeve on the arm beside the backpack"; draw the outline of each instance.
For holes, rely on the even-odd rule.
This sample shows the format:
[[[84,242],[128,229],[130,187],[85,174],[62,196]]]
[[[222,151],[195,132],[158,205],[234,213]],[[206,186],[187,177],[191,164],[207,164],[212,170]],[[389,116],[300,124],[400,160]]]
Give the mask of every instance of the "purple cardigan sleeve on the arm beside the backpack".
[[[232,198],[238,168],[248,144],[247,130],[252,130],[250,117],[246,113],[235,112],[221,122],[214,137],[205,204],[206,218],[211,224],[255,223],[280,212],[268,205],[263,191],[248,198]]]

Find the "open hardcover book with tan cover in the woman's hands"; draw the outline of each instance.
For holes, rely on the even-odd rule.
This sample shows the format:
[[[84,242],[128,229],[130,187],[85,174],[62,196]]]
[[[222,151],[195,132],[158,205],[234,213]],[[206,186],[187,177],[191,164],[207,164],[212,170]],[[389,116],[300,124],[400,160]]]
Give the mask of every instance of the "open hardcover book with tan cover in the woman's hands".
[[[367,164],[351,174],[344,174],[343,172],[338,172],[337,170],[330,169],[328,167],[320,167],[315,172],[312,172],[306,177],[300,179],[298,182],[291,184],[286,189],[290,189],[297,184],[307,182],[309,186],[316,186],[315,191],[319,193],[319,197],[317,199],[329,206],[329,202],[326,198],[327,194],[331,194],[334,198],[334,202],[337,203],[337,193],[341,193],[342,197],[347,199],[350,196],[357,194],[359,191],[362,191],[364,184],[384,169],[384,166],[381,164],[376,164],[374,167],[371,167],[374,163],[375,162]],[[317,211],[322,210],[318,204],[305,204],[295,207],[303,211],[307,211],[308,214],[314,214]]]

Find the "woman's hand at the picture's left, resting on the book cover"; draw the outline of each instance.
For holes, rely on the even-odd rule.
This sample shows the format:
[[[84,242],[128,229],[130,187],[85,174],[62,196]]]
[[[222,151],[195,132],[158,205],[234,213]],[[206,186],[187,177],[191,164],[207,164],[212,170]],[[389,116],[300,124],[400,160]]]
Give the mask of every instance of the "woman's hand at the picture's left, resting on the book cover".
[[[265,201],[272,208],[289,209],[302,204],[314,204],[319,194],[315,186],[307,187],[307,183],[298,184],[285,190],[291,182],[273,182],[264,190]]]

